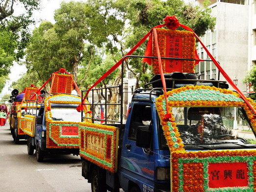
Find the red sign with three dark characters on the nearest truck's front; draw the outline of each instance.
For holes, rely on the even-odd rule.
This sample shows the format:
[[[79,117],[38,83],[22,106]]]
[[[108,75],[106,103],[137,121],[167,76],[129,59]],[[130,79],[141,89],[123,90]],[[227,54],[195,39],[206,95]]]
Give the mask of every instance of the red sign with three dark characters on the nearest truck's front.
[[[247,163],[210,163],[209,188],[248,186]]]

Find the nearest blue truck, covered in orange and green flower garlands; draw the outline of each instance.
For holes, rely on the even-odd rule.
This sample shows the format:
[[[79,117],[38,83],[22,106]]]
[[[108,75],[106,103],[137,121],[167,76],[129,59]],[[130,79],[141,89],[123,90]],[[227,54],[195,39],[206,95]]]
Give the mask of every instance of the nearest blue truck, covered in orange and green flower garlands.
[[[162,35],[159,31],[158,36]],[[162,31],[171,33],[166,38],[174,39],[169,48],[179,48],[175,45],[180,41],[179,32]],[[180,61],[169,55],[164,59]],[[212,61],[217,65],[214,58]],[[188,65],[174,64],[183,69]],[[127,120],[123,120],[122,113],[126,107],[123,84],[116,88],[119,101],[100,104],[104,106],[104,119],[95,118],[94,108],[101,98],[93,97],[90,104],[82,103],[77,108],[92,107],[92,123],[81,122],[79,126],[82,176],[91,183],[92,192],[118,192],[120,188],[125,192],[255,191],[256,104],[227,90],[226,81],[197,79],[194,65],[190,65],[190,72],[156,73],[151,88],[135,90]],[[94,96],[99,89],[89,91]],[[102,89],[107,98],[110,88]],[[119,114],[117,119],[107,119],[106,111],[112,105]],[[234,120],[250,132],[245,133],[242,125],[234,130]]]

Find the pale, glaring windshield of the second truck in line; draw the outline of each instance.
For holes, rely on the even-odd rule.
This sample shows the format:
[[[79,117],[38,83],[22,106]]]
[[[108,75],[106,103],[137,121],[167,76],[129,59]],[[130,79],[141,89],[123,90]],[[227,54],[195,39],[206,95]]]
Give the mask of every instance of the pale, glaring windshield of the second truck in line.
[[[76,108],[51,108],[51,119],[58,121],[81,121],[81,114]]]

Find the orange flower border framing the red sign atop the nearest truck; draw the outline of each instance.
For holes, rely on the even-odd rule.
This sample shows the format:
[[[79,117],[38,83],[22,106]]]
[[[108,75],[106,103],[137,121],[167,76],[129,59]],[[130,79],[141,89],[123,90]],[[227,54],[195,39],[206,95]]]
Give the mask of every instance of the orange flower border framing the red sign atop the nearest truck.
[[[182,58],[195,59],[195,36],[190,31],[179,31],[179,30],[170,30],[170,29],[161,29],[157,28],[157,40],[159,44],[160,55],[165,57],[166,54],[166,37],[167,36],[176,36],[182,37]],[[154,42],[153,42],[154,43]],[[155,43],[153,44],[153,55],[156,54]],[[181,58],[181,57],[180,57]],[[182,61],[182,71],[181,72],[194,72],[195,71],[195,61]],[[162,59],[163,72],[166,72],[165,69],[165,59]],[[158,60],[153,59],[152,68],[154,74],[159,74],[159,65]]]

